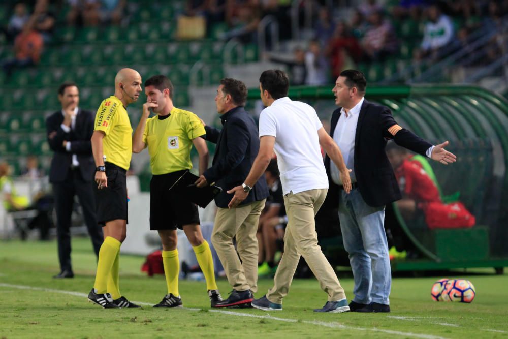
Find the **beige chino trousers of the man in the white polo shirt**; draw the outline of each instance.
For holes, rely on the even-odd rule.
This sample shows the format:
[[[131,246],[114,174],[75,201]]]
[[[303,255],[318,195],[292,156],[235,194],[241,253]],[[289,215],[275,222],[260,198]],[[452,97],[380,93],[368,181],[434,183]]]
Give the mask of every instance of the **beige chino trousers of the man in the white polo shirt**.
[[[328,294],[328,301],[345,298],[337,275],[317,244],[314,217],[325,201],[327,191],[290,192],[284,196],[289,220],[284,234],[284,254],[275,272],[274,286],[266,294],[273,303],[282,304],[282,299],[288,294],[300,256],[303,256],[321,288]]]

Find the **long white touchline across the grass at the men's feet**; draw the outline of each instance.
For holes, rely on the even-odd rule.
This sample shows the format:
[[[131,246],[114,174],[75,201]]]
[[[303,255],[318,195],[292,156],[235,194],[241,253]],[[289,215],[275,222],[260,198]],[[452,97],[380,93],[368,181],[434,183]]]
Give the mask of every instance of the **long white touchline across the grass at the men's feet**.
[[[9,287],[9,288],[15,288],[15,289],[21,289],[21,290],[34,290],[34,291],[68,294],[68,295],[72,295],[72,296],[76,296],[76,297],[85,297],[85,298],[88,296],[86,293],[82,293],[82,292],[56,290],[56,289],[44,288],[44,287],[32,287],[32,286],[26,286],[26,285],[13,285],[13,284],[0,283],[0,287]],[[148,302],[141,302],[141,301],[134,301],[134,302],[138,303],[140,305],[147,305],[147,306],[153,305]],[[201,310],[201,309],[191,309],[188,307],[184,307],[184,309],[189,310],[189,311]],[[288,323],[303,323],[303,324],[316,325],[316,326],[329,327],[329,328],[340,328],[340,329],[345,329],[345,330],[380,332],[380,333],[409,336],[409,337],[415,337],[415,338],[421,338],[421,339],[444,339],[441,336],[431,335],[431,334],[402,332],[402,331],[380,329],[380,328],[375,328],[375,327],[367,328],[367,327],[347,326],[347,325],[343,325],[343,324],[340,324],[337,322],[309,321],[309,320],[278,318],[278,317],[273,317],[269,314],[257,315],[257,314],[241,313],[241,312],[234,312],[234,311],[224,311],[224,310],[209,310],[209,312],[221,313],[221,314],[225,314],[225,315],[232,315],[232,316],[238,316],[238,317],[267,319],[267,320],[274,320],[274,321],[281,321],[281,322],[288,322]]]

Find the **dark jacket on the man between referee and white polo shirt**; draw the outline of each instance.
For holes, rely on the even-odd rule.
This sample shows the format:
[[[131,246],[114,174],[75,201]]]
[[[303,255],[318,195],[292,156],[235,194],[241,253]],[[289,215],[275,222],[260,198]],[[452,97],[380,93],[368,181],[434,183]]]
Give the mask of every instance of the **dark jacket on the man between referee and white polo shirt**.
[[[220,119],[224,125],[222,130],[205,126],[206,140],[216,143],[217,148],[212,167],[203,174],[209,183],[215,182],[223,188],[215,197],[215,203],[220,208],[227,208],[233,194],[226,191],[243,183],[258,155],[259,131],[256,122],[243,107],[233,108]],[[268,186],[263,174],[242,204],[260,201],[266,197]]]

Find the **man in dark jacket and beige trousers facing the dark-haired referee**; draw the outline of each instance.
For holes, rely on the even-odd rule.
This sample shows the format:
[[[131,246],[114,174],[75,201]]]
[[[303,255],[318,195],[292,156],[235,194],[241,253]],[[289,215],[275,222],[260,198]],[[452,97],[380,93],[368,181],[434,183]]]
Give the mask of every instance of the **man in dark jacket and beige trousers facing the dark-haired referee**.
[[[251,194],[236,208],[228,208],[233,194],[226,192],[242,185],[259,151],[258,127],[243,108],[246,100],[247,87],[243,82],[231,78],[220,80],[215,103],[224,127],[219,131],[205,126],[206,139],[216,143],[217,148],[212,167],[196,181],[198,187],[215,182],[223,189],[215,198],[218,211],[213,225],[212,244],[233,291],[228,299],[216,303],[215,307],[251,307],[252,293],[258,290],[256,232],[268,197],[265,177],[253,187],[243,186],[245,192],[250,191]],[[233,237],[236,237],[238,254]]]

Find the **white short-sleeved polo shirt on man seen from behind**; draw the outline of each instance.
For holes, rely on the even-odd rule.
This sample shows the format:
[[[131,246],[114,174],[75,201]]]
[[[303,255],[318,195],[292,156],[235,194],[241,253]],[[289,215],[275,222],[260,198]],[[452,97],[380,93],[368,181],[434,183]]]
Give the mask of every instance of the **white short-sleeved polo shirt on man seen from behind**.
[[[317,135],[322,126],[314,108],[288,97],[261,112],[259,136],[275,137],[282,194],[328,189]]]

